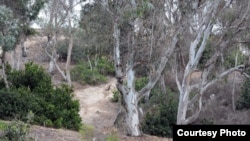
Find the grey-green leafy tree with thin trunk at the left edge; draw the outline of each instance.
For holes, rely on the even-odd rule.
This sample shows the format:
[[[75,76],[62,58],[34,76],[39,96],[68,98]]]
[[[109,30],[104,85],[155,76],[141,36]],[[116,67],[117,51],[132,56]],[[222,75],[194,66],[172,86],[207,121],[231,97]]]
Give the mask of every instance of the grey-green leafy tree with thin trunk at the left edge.
[[[0,46],[2,50],[2,75],[5,87],[8,89],[9,84],[5,74],[5,54],[14,50],[19,33],[18,20],[14,18],[11,9],[4,5],[0,5]]]

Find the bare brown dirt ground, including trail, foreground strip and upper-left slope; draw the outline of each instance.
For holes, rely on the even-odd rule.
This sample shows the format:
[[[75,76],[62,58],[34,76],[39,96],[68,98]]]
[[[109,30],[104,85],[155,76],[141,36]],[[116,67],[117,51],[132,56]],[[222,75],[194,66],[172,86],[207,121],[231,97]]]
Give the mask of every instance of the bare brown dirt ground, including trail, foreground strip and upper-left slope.
[[[29,37],[25,42],[27,57],[21,57],[20,68],[24,68],[27,62],[34,62],[48,68],[48,57],[44,52],[46,37]],[[16,56],[20,55],[20,49]],[[9,57],[11,54],[9,54]],[[8,57],[8,56],[7,56]],[[11,62],[10,62],[11,63]],[[59,63],[63,68],[64,63]],[[59,73],[52,77],[55,85],[62,83]],[[115,78],[109,78],[108,82],[101,85],[81,85],[73,82],[75,98],[80,102],[80,116],[83,125],[91,130],[89,134],[65,129],[53,129],[42,126],[32,126],[30,136],[36,141],[105,141],[108,136],[116,135],[121,141],[169,141],[172,139],[143,135],[142,137],[128,137],[113,126],[116,114],[119,110],[117,103],[112,103],[112,91],[115,89]]]

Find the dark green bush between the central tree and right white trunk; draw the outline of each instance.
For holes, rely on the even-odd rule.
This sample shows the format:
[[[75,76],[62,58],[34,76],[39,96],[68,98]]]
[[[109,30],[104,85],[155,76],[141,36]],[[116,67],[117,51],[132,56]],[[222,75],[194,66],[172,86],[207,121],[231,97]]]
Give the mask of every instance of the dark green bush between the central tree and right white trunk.
[[[167,90],[167,95],[155,90],[157,91],[158,93],[152,94],[149,100],[150,108],[142,123],[142,130],[151,135],[172,137],[173,125],[177,118],[177,98],[170,90]]]

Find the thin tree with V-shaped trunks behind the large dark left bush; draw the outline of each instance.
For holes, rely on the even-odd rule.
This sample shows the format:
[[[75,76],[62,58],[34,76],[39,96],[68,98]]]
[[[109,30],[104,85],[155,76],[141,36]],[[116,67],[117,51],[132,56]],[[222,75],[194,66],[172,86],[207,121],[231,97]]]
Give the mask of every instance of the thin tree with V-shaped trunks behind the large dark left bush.
[[[71,85],[70,78],[70,61],[71,52],[74,44],[73,40],[73,20],[74,12],[73,9],[76,5],[83,2],[83,0],[53,0],[47,5],[48,11],[48,23],[46,23],[46,34],[48,37],[48,42],[46,44],[45,52],[50,57],[50,63],[48,72],[52,73],[56,68],[64,80]],[[67,62],[65,65],[65,72],[57,64],[57,42],[60,32],[62,29],[68,29],[66,38],[69,40],[68,51],[67,51]]]

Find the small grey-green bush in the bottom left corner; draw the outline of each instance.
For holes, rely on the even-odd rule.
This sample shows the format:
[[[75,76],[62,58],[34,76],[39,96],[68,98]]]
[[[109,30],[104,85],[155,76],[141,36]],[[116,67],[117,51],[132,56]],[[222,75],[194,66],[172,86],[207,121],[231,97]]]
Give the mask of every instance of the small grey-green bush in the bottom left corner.
[[[3,139],[9,141],[28,141],[30,126],[22,121],[13,121],[4,130]],[[0,138],[1,139],[1,138]]]

